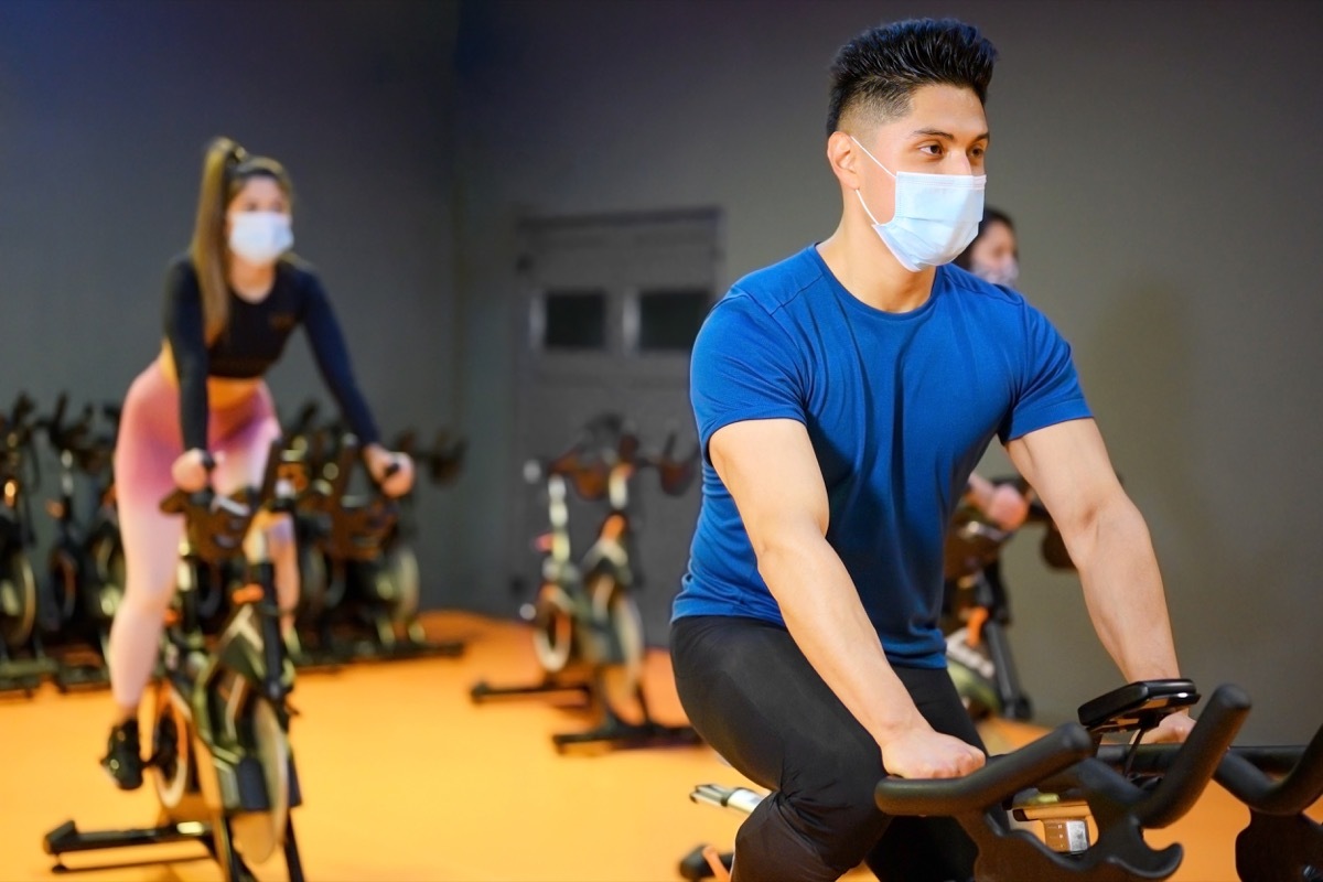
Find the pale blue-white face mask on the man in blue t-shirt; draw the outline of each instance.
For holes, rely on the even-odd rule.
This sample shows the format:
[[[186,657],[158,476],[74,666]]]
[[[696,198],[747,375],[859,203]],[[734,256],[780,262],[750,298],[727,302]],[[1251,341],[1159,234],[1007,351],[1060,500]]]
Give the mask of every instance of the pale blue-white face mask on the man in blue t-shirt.
[[[853,135],[849,139],[859,144]],[[859,144],[859,149],[877,163],[867,147]],[[892,175],[881,163],[877,167],[896,179],[896,213],[892,220],[878,223],[868,210],[864,194],[856,189],[855,196],[873,222],[873,230],[902,267],[918,272],[923,267],[950,263],[968,247],[983,218],[986,175]]]

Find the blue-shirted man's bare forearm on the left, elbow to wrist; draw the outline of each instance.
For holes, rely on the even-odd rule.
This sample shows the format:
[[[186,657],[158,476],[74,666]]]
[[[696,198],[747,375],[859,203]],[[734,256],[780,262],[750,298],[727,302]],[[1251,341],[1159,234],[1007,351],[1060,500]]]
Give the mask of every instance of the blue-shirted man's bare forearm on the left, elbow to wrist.
[[[758,570],[808,664],[878,744],[927,726],[826,540],[806,537],[763,549]]]

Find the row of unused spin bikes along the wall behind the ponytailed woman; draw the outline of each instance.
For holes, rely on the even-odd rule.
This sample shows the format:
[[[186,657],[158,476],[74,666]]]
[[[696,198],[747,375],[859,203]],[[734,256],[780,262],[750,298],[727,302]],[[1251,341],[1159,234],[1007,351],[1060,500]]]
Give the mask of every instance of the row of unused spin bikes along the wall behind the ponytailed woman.
[[[42,681],[60,690],[108,684],[110,625],[124,586],[124,555],[111,468],[118,407],[91,405],[69,413],[60,395],[46,415],[20,395],[0,414],[0,692],[32,694]],[[336,666],[361,659],[458,655],[455,643],[429,643],[418,623],[419,574],[411,540],[413,497],[389,508],[380,536],[356,538],[364,514],[347,496],[356,450],[335,422],[318,422],[306,405],[286,427],[302,454],[294,510],[302,578],[298,610],[299,666]],[[45,451],[40,442],[45,442]],[[418,450],[414,432],[396,439],[434,484],[454,479],[464,442],[438,434]],[[32,500],[41,485],[44,452],[58,463],[58,493],[46,500],[52,533],[45,570],[33,566],[41,526]],[[238,558],[208,565],[198,579],[204,633],[226,621]]]

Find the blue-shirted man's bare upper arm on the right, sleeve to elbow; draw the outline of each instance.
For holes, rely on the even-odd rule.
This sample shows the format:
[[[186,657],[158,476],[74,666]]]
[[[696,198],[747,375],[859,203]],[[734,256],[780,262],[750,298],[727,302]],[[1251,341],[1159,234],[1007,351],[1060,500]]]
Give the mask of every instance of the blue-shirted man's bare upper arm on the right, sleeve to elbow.
[[[1035,430],[1009,442],[1005,451],[1061,529],[1086,517],[1119,488],[1093,419]]]

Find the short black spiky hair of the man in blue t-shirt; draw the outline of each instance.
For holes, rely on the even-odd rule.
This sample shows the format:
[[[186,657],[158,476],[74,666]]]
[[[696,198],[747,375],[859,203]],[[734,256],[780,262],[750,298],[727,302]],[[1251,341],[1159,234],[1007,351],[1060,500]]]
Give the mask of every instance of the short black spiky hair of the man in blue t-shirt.
[[[909,112],[919,86],[972,89],[987,103],[995,61],[996,48],[979,29],[954,19],[909,19],[865,30],[832,61],[827,135],[860,114],[881,122]]]

